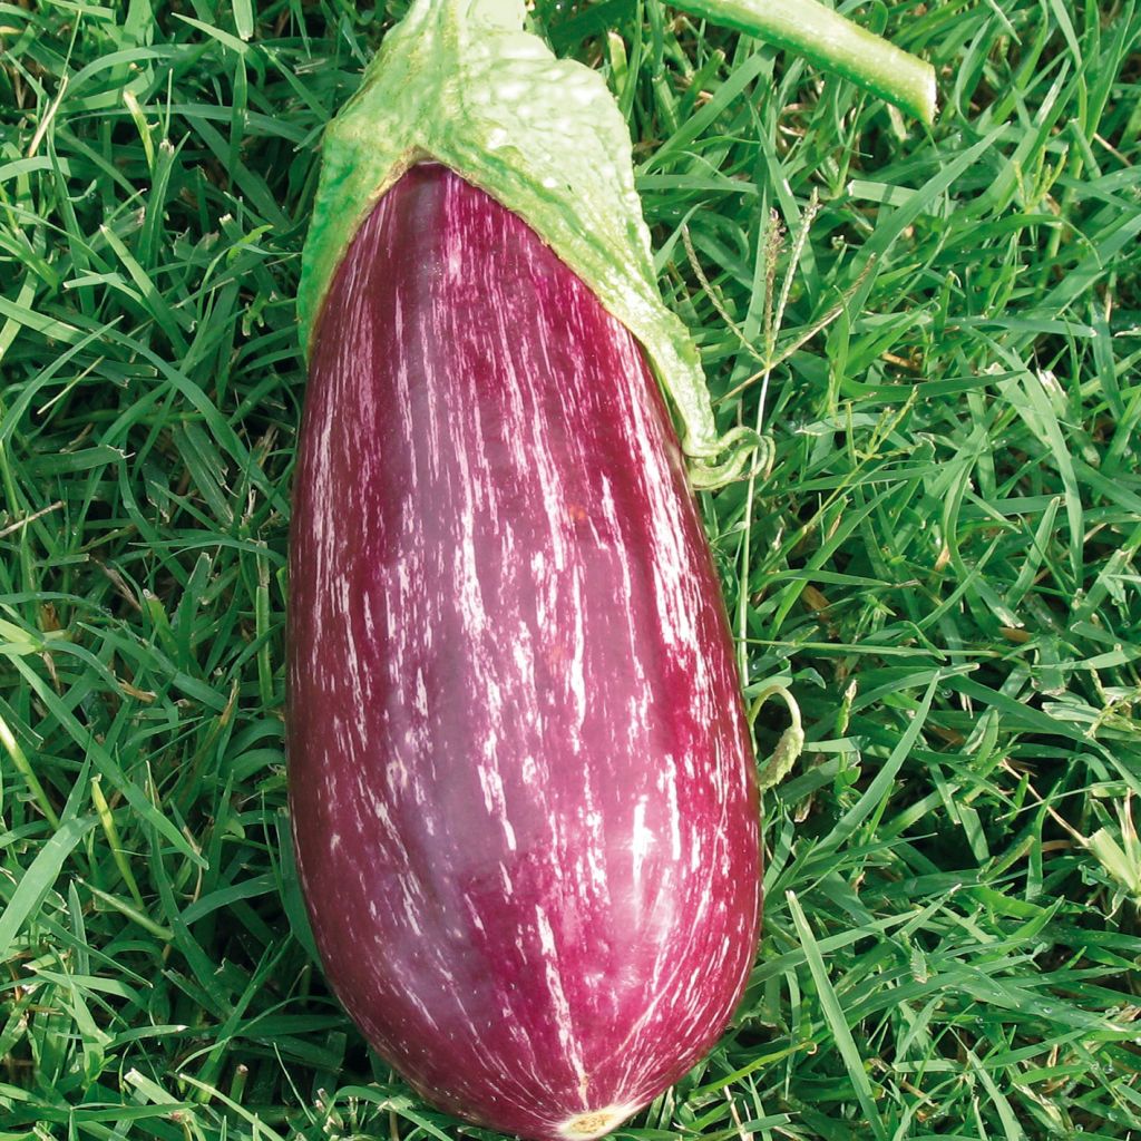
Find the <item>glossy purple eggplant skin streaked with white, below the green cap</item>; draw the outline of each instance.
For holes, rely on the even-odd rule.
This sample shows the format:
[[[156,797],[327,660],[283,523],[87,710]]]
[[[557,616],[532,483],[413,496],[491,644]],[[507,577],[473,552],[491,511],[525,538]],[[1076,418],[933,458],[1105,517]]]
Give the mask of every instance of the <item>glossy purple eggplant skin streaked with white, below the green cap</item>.
[[[329,980],[429,1101],[592,1138],[755,950],[754,762],[642,354],[515,215],[411,168],[334,276],[293,493],[289,767]]]

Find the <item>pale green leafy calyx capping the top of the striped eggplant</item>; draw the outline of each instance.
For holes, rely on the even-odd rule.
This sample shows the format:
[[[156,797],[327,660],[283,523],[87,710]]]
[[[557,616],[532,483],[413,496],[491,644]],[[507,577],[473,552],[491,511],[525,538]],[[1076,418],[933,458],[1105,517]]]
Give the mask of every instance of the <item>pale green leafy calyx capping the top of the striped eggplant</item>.
[[[518,215],[638,339],[696,486],[736,478],[752,431],[719,436],[701,361],[657,289],[630,135],[602,78],[524,32],[517,0],[415,0],[329,126],[298,309],[308,351],[341,258],[378,200],[435,161]]]

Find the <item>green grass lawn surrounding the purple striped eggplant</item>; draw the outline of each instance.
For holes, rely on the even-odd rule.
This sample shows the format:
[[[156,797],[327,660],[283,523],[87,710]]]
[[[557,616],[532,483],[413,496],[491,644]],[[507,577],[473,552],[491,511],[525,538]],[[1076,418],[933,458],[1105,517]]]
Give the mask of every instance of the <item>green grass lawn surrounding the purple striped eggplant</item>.
[[[937,66],[930,131],[653,3],[534,11],[771,440],[703,508],[808,738],[734,1028],[623,1135],[1136,1139],[1141,16],[860,16]],[[460,1132],[331,1000],[283,856],[298,253],[388,18],[0,3],[2,1141]]]

